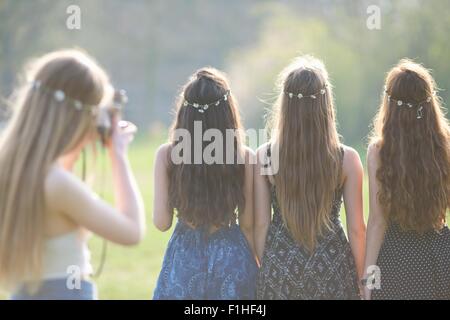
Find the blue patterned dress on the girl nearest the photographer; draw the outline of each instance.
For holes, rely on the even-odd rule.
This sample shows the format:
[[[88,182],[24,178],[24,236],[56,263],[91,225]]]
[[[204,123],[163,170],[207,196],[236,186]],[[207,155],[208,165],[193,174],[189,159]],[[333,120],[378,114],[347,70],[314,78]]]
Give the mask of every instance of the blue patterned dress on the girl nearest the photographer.
[[[212,234],[178,221],[153,299],[255,299],[258,268],[237,224]]]

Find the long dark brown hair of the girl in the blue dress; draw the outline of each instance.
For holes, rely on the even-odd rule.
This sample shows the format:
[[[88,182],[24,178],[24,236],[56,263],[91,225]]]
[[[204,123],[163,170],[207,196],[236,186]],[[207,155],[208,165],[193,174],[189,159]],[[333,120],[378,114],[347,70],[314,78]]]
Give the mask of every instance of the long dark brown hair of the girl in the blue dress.
[[[203,68],[191,76],[177,102],[170,143],[175,147],[182,141],[176,139],[175,130],[187,130],[192,142],[191,162],[174,164],[169,159],[169,204],[177,210],[178,218],[195,227],[230,225],[236,221],[237,211],[243,210],[245,206],[245,165],[242,161],[238,162],[238,157],[243,156],[242,126],[236,99],[230,93],[226,101],[221,100],[219,105],[211,106],[204,113],[183,104],[185,100],[200,105],[209,104],[222,98],[229,90],[227,78],[222,72]],[[195,121],[202,124],[202,136],[208,129],[219,130],[222,137],[226,137],[227,129],[236,130],[232,144],[233,164],[225,164],[225,160],[224,164],[207,164],[204,161],[194,164],[193,139],[200,139],[194,136]],[[202,144],[204,150],[209,142],[202,140]],[[224,158],[227,157],[226,152],[224,141]]]

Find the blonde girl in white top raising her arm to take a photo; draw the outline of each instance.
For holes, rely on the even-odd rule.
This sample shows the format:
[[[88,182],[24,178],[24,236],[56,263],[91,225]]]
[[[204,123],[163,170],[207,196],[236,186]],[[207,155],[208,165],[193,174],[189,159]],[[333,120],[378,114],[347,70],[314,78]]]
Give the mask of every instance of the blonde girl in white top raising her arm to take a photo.
[[[144,207],[127,159],[136,127],[115,121],[108,149],[116,205],[73,173],[96,141],[106,73],[85,53],[47,54],[27,72],[15,113],[0,138],[0,285],[13,299],[95,299],[88,231],[134,245]]]

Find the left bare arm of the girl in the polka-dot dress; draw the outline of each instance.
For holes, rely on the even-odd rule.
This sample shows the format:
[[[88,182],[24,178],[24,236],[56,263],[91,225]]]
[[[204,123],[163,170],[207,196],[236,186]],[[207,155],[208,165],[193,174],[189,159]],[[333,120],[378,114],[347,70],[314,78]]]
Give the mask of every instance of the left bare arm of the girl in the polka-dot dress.
[[[367,153],[367,168],[369,172],[369,222],[367,224],[366,258],[364,263],[364,275],[367,277],[367,268],[376,265],[378,253],[384,240],[386,223],[378,202],[379,184],[376,177],[379,166],[378,148],[370,145]],[[370,290],[364,289],[365,299],[370,299]]]

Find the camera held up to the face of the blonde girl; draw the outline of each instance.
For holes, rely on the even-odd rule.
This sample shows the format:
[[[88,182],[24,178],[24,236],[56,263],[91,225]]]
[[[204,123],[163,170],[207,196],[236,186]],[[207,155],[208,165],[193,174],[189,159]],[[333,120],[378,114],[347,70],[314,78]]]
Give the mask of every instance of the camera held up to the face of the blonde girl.
[[[128,102],[125,90],[116,90],[111,104],[99,108],[97,115],[97,132],[100,141],[105,145],[111,138],[114,121],[120,121],[122,110]]]

